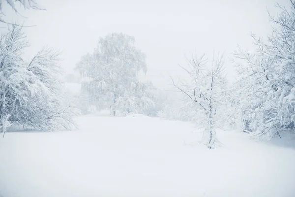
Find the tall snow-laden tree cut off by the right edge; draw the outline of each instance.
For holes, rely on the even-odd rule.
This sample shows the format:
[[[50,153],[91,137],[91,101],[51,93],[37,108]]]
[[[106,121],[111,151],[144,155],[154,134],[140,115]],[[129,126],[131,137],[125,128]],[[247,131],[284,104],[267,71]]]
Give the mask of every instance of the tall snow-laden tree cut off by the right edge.
[[[271,17],[275,26],[267,41],[253,34],[256,51],[235,53],[243,119],[258,138],[295,129],[295,1],[290,2],[290,9],[277,4],[281,13]]]

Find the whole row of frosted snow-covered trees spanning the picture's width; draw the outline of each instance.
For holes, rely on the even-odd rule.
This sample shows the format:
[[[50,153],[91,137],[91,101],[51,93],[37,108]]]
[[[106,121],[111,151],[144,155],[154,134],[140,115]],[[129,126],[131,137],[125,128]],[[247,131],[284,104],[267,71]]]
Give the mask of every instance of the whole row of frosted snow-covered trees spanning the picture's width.
[[[42,49],[25,61],[29,46],[22,28],[11,25],[0,37],[0,129],[11,124],[44,131],[75,126],[71,106],[82,114],[109,109],[113,116],[141,113],[194,121],[204,129],[204,143],[219,146],[216,129],[229,127],[257,139],[281,137],[295,125],[295,1],[270,17],[267,39],[252,35],[255,51],[237,47],[233,57],[239,80],[229,84],[225,58],[193,56],[182,65],[186,76],[171,83],[183,95],[173,100],[151,82],[139,80],[147,72],[146,56],[135,38],[123,33],[101,37],[92,53],[76,65],[81,91],[71,104],[60,80],[59,53]]]

